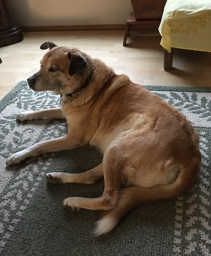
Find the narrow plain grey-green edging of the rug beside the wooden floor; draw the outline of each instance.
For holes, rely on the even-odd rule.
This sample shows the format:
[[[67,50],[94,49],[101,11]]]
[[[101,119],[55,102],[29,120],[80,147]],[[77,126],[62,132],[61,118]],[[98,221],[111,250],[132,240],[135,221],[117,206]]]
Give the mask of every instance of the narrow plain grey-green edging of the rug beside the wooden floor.
[[[5,95],[0,101],[0,111],[2,111],[7,105],[8,101],[12,100],[15,95],[22,89],[23,84],[27,81],[20,81],[14,88]],[[143,85],[150,91],[174,91],[174,92],[211,92],[211,87],[185,87],[185,86],[163,86],[163,85]]]

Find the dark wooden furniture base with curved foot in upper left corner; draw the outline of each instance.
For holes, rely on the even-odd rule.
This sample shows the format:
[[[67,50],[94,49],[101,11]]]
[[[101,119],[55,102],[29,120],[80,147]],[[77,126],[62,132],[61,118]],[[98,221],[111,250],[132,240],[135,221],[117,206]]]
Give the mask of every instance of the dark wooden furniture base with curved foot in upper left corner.
[[[0,47],[22,41],[21,30],[14,25],[6,0],[0,0]]]

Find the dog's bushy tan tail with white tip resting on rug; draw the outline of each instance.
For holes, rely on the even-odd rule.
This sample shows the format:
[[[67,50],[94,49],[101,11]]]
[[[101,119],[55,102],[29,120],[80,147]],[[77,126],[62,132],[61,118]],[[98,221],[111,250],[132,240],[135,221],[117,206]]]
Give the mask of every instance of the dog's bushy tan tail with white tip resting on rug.
[[[188,190],[197,177],[200,169],[200,153],[188,166],[183,167],[177,179],[168,185],[148,187],[128,187],[120,191],[117,206],[96,222],[95,235],[99,236],[111,231],[126,213],[141,204],[171,199],[181,196]]]

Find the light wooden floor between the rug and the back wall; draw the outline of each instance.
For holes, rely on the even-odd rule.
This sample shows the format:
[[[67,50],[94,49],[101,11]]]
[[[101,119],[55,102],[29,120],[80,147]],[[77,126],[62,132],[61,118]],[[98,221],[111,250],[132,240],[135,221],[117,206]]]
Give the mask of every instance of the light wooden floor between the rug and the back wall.
[[[142,85],[211,85],[211,53],[176,49],[174,69],[164,71],[158,33],[132,33],[127,47],[123,46],[124,30],[27,32],[23,36],[22,42],[0,48],[0,99],[38,71],[46,52],[39,49],[44,41],[78,47]]]

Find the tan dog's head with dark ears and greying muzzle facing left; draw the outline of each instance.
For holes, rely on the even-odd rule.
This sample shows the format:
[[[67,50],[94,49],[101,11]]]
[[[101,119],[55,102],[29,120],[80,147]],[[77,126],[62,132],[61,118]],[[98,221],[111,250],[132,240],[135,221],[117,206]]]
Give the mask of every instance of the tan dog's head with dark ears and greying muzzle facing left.
[[[40,61],[40,70],[27,79],[34,91],[54,91],[71,93],[80,87],[92,68],[88,55],[78,49],[59,47],[45,42],[40,49],[50,49]]]

